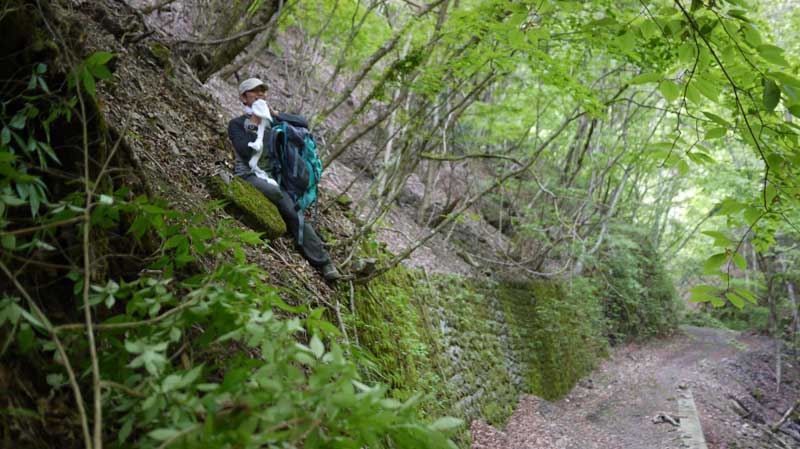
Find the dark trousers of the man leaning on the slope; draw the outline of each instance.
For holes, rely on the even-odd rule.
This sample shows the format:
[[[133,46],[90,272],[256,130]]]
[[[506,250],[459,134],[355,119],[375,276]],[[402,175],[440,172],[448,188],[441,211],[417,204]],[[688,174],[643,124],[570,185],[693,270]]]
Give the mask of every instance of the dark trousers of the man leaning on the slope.
[[[281,190],[280,187],[274,186],[256,175],[247,175],[244,180],[258,189],[278,207],[283,221],[286,222],[286,229],[294,238],[294,241],[297,242],[300,221],[297,217],[297,211],[294,210],[294,201],[289,197],[289,194]],[[308,221],[303,224],[303,243],[298,246],[303,257],[314,267],[320,268],[331,260],[328,252],[322,246],[322,240],[320,240]]]

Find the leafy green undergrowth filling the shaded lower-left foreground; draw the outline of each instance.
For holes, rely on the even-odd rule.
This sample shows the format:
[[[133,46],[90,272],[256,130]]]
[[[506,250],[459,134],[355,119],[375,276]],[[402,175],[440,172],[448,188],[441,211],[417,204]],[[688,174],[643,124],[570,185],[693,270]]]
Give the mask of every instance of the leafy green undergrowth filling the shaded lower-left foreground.
[[[206,214],[115,185],[109,168],[120,141],[92,116],[96,81],[112,76],[112,57],[89,56],[66,83],[52,74],[61,77],[58,92],[36,65],[0,111],[0,269],[10,281],[2,284],[0,355],[43,397],[71,397],[66,422],[81,430],[61,443],[453,447],[444,432],[460,420],[423,422],[418,395],[401,402],[386,386],[362,383],[324,310],[281,300],[246,259],[246,245],[265,245],[258,233],[224,220],[208,226]],[[63,131],[51,146],[54,121]],[[68,149],[71,138],[79,151]],[[66,183],[49,170],[64,154]],[[44,278],[51,287],[38,284]],[[9,394],[8,414],[48,422],[33,391]],[[24,441],[47,438],[35,426],[12,428]]]

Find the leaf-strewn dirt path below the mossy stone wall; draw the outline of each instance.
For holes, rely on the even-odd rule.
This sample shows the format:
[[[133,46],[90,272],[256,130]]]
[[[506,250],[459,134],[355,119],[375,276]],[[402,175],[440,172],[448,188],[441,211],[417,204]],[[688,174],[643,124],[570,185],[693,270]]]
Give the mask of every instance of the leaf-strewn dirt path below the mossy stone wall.
[[[654,423],[681,416],[683,390],[694,395],[708,449],[797,448],[797,421],[781,427],[783,443],[765,432],[800,394],[800,367],[787,357],[776,392],[774,352],[766,337],[688,326],[623,345],[561,400],[523,397],[504,431],[473,422],[472,448],[694,449],[680,427]]]

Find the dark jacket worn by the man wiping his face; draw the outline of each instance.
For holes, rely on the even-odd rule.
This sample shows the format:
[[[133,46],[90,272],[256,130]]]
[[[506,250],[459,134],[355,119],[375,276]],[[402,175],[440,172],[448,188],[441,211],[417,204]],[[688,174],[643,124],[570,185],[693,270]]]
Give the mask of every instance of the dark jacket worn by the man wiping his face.
[[[308,128],[308,120],[299,115],[279,113],[276,119],[279,122],[286,122],[293,126]],[[272,172],[272,162],[267,157],[269,153],[267,150],[269,131],[267,129],[264,133],[264,153],[258,161],[259,167],[267,173]],[[254,142],[258,137],[258,125],[250,123],[247,115],[241,115],[228,123],[228,137],[230,137],[233,144],[233,173],[236,176],[246,176],[250,173],[249,162],[254,152],[247,144]]]

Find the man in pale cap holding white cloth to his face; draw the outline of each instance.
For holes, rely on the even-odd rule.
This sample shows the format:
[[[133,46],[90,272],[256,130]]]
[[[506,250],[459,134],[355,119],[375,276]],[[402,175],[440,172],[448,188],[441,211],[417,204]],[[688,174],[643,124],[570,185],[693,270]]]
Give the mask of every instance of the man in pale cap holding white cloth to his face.
[[[300,247],[303,257],[314,268],[322,271],[326,281],[335,282],[341,278],[341,274],[331,262],[319,236],[308,222],[303,223],[301,233],[301,220],[294,201],[269,175],[272,168],[267,151],[271,125],[269,120],[287,122],[303,128],[308,128],[308,121],[304,117],[279,113],[267,106],[266,94],[267,86],[258,78],[246,79],[239,85],[239,99],[245,107],[245,114],[228,124],[228,136],[233,143],[236,159],[234,174],[254,186],[278,207],[286,228]],[[261,130],[259,125],[262,125]]]

